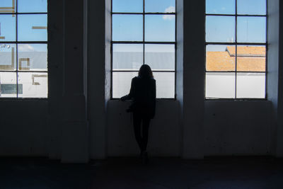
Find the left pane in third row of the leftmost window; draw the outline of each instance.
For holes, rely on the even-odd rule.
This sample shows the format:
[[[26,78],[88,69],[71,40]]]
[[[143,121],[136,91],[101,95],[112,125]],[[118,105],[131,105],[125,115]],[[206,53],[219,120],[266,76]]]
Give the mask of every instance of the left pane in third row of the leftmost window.
[[[16,45],[0,44],[0,70],[16,69]]]

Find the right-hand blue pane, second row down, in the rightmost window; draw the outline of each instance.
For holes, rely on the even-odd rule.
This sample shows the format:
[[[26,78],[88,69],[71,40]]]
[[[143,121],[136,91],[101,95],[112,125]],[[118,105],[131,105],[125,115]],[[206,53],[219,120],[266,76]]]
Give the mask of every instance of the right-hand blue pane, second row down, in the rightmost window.
[[[265,17],[238,17],[238,42],[265,42]]]

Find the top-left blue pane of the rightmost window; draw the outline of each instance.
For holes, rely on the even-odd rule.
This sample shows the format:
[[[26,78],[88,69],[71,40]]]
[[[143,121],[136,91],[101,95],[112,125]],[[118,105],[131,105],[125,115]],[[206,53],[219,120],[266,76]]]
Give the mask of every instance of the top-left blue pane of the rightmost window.
[[[213,14],[234,14],[235,0],[206,0],[206,12]]]

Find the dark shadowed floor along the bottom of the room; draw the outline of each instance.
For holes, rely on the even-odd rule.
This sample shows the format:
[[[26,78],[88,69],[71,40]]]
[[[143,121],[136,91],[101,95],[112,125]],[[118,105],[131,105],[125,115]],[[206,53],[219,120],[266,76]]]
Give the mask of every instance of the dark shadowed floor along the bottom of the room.
[[[0,158],[0,188],[283,188],[283,161],[267,157],[188,161],[117,158],[90,164]]]

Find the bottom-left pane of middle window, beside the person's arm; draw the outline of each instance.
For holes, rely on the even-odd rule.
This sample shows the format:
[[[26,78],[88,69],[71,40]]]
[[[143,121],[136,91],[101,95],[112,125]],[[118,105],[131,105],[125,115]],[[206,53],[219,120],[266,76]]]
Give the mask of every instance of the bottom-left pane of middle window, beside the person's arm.
[[[137,76],[137,72],[112,72],[112,97],[120,98],[127,95],[134,76]]]

